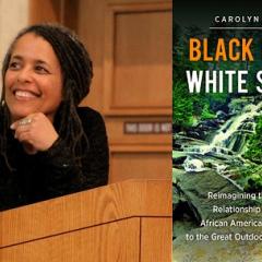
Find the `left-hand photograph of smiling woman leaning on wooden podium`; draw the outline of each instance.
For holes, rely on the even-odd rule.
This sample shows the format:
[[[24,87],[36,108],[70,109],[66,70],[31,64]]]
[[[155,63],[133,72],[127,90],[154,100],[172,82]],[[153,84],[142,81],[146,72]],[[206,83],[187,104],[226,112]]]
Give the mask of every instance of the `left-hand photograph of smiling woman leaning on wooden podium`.
[[[172,1],[0,10],[0,262],[171,261]]]

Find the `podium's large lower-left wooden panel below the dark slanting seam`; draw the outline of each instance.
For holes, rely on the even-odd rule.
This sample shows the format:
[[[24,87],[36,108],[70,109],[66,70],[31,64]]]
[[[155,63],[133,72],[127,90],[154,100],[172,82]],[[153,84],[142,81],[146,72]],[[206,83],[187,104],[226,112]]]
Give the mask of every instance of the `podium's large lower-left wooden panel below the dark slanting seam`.
[[[7,262],[110,262],[140,260],[140,218],[68,231],[0,251]]]

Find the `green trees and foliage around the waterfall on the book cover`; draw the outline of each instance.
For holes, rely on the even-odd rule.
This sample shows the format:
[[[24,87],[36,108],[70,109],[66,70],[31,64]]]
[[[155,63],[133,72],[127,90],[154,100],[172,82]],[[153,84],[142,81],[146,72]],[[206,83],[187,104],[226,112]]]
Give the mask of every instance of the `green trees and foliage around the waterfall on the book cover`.
[[[218,38],[224,38],[226,43],[233,38],[253,38],[252,53],[254,61],[216,61],[204,62],[189,61],[189,39],[196,37],[199,39],[209,38],[209,53],[215,52]],[[174,46],[172,46],[172,120],[176,130],[189,129],[196,126],[198,122],[206,119],[215,118],[217,110],[228,110],[228,103],[231,98],[239,97],[241,94],[237,92],[237,78],[234,79],[233,93],[225,91],[224,93],[205,93],[203,90],[200,94],[190,94],[187,82],[186,71],[200,70],[248,70],[246,88],[249,95],[257,96],[255,86],[259,84],[255,78],[257,72],[262,69],[262,32],[260,31],[210,31],[203,32],[200,27],[191,26],[187,28],[180,27],[174,23]],[[203,83],[204,85],[205,83]],[[228,86],[225,78],[223,85]],[[261,85],[261,84],[260,84]],[[251,160],[248,167],[241,167],[239,170],[238,182],[248,191],[262,190],[262,116],[257,119],[255,133],[251,135],[248,150],[243,155],[245,158]]]

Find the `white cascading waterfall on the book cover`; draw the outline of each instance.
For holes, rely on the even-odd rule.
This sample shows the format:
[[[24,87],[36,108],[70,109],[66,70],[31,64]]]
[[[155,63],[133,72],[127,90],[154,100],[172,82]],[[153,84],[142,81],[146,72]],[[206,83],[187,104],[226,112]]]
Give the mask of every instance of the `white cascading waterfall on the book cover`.
[[[184,145],[183,152],[188,155],[183,162],[184,170],[202,171],[213,168],[221,175],[227,175],[233,167],[243,165],[241,154],[246,150],[248,138],[254,132],[254,118],[260,115],[261,109],[262,102],[246,105],[216,131],[209,144]]]

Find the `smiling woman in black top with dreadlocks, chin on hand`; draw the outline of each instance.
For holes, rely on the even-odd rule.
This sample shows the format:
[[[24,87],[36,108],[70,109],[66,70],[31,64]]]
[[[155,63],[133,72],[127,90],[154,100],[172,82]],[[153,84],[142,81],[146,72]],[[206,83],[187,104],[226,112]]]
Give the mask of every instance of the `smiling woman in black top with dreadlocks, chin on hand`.
[[[38,24],[15,37],[2,64],[0,211],[107,183],[104,120],[78,107],[92,76],[68,28]]]

